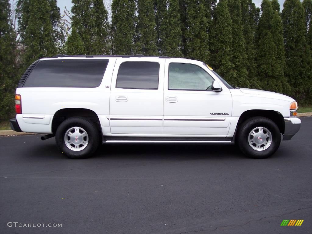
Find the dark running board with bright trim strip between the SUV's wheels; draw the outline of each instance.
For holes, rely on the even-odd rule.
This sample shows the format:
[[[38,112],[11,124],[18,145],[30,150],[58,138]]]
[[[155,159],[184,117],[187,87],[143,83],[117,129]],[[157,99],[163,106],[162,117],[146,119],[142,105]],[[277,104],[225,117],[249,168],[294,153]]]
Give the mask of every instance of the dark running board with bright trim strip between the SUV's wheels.
[[[234,144],[232,138],[105,137],[103,144]]]

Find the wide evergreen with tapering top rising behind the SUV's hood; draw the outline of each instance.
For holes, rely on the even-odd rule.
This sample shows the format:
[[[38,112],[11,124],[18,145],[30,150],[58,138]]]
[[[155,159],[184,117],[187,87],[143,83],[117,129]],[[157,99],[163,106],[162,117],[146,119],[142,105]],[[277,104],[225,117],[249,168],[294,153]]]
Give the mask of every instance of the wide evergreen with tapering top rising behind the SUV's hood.
[[[257,75],[262,89],[285,93],[288,85],[284,77],[285,50],[280,15],[270,0],[262,1],[261,11],[256,37]]]

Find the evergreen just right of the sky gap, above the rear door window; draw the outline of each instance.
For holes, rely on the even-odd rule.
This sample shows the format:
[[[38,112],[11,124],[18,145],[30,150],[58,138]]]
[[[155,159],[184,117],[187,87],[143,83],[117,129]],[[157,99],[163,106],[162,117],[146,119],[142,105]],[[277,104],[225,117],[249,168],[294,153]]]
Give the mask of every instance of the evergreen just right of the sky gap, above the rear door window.
[[[112,32],[114,54],[134,54],[135,2],[114,0],[112,2]]]

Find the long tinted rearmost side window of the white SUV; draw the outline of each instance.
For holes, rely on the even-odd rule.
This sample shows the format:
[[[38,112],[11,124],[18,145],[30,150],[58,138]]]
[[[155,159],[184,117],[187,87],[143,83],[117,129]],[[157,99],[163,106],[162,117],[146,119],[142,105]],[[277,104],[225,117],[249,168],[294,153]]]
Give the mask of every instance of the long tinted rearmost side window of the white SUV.
[[[108,59],[64,59],[40,61],[23,87],[98,87]]]

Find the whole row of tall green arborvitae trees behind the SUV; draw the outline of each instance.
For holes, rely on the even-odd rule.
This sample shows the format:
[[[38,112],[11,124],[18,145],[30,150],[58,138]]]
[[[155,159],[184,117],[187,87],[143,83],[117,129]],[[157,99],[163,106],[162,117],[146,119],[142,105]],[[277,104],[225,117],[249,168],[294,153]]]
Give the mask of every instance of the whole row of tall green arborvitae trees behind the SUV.
[[[0,0],[1,119],[13,112],[15,74],[61,51],[196,59],[235,86],[311,103],[312,0],[285,0],[282,12],[278,0],[263,0],[261,16],[252,0],[113,0],[111,17],[102,0],[72,2],[71,35],[60,48],[56,0],[19,0],[15,29],[9,0]]]

